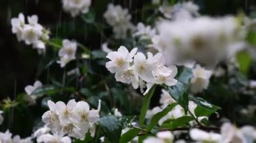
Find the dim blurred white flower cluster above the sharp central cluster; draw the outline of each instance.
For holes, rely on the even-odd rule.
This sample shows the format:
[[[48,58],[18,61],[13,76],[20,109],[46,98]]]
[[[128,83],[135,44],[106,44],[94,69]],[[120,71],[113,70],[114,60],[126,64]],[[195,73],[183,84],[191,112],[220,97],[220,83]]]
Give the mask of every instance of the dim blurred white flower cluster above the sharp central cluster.
[[[108,24],[113,27],[115,38],[125,38],[128,30],[133,30],[131,23],[131,15],[127,9],[123,9],[121,5],[109,4],[104,17]]]

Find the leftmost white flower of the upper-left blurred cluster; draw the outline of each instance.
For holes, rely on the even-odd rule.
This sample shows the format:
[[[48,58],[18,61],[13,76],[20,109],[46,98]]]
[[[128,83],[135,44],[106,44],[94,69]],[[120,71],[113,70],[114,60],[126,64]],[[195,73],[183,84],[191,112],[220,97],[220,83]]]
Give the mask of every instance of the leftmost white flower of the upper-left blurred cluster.
[[[13,34],[16,34],[18,41],[21,41],[22,38],[22,32],[25,25],[25,17],[23,13],[20,13],[18,18],[12,18],[11,19],[11,31]]]

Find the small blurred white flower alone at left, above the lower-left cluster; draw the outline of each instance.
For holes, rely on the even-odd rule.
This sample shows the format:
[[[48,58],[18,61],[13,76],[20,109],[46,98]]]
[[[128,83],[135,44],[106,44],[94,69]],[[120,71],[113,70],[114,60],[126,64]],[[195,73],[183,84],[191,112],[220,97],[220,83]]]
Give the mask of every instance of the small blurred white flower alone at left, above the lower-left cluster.
[[[30,104],[36,103],[36,98],[40,97],[40,95],[32,95],[33,91],[37,89],[38,87],[42,87],[42,83],[40,81],[34,82],[34,86],[28,85],[25,87],[25,91],[28,95],[26,95],[24,98],[26,101],[28,101]]]

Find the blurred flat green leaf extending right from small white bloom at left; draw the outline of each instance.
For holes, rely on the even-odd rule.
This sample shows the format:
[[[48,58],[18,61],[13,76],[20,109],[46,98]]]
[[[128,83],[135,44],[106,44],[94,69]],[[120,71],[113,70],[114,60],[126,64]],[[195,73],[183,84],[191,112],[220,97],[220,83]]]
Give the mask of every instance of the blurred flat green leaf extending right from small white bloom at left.
[[[42,87],[38,87],[35,89],[31,94],[32,95],[54,95],[56,93],[60,93],[63,91],[68,91],[68,92],[75,92],[75,88],[73,87],[55,87],[53,85],[42,85]]]

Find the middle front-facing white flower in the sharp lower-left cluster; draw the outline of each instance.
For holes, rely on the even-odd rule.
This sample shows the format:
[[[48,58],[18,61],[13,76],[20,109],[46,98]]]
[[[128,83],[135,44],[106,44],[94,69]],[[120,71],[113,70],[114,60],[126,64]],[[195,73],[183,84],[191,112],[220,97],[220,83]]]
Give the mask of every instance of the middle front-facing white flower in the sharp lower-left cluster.
[[[75,99],[69,100],[67,105],[62,101],[56,103],[57,114],[59,115],[59,122],[62,126],[66,124],[71,124],[73,122],[78,122],[76,116],[73,113],[73,108],[77,105]]]

